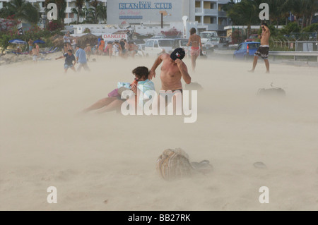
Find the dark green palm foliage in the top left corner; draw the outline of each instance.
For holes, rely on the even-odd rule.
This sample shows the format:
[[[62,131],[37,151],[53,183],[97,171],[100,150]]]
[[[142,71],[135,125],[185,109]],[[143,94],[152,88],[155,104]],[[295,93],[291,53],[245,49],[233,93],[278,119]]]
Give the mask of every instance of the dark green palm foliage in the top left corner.
[[[11,0],[9,2],[4,2],[4,8],[1,10],[1,15],[14,15],[15,18],[26,20],[30,23],[37,23],[40,18],[38,8],[25,0]]]

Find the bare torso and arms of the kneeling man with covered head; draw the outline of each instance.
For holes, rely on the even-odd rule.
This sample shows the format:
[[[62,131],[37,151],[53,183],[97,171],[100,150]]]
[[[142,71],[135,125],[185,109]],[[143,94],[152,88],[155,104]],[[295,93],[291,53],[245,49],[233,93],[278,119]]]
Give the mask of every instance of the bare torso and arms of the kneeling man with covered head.
[[[182,90],[181,78],[185,83],[191,83],[191,77],[188,73],[187,66],[180,59],[173,61],[169,54],[161,54],[156,59],[151,71],[149,73],[149,79],[155,77],[155,69],[163,62],[163,66],[160,69],[160,90]]]

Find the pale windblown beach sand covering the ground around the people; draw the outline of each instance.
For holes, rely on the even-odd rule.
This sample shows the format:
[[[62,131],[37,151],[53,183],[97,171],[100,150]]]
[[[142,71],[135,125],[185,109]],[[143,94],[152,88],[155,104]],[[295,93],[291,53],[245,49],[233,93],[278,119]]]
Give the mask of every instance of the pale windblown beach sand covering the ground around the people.
[[[66,74],[63,59],[0,66],[0,210],[318,210],[317,68],[271,63],[265,74],[259,61],[247,73],[250,61],[213,58],[192,73],[184,59],[204,87],[195,123],[78,114],[154,61],[100,56],[90,72]],[[286,97],[257,97],[271,83]],[[155,162],[176,147],[213,172],[161,179]],[[49,186],[57,204],[47,202]]]

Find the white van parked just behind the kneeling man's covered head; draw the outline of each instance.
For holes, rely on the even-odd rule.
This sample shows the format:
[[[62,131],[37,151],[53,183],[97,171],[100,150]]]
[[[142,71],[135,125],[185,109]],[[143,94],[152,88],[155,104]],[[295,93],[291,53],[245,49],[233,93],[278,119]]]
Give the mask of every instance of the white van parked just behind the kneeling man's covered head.
[[[158,56],[163,52],[170,54],[175,44],[175,39],[158,38],[148,39],[145,44],[145,50],[143,51],[146,56]]]

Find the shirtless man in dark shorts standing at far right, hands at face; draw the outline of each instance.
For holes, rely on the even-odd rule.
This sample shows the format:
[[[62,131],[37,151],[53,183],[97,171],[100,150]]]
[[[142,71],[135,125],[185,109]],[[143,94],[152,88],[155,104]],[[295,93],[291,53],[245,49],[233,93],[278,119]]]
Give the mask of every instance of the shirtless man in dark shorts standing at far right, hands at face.
[[[261,59],[264,59],[265,66],[266,66],[266,73],[269,73],[269,36],[271,35],[271,32],[265,22],[261,23],[261,36],[259,36],[259,39],[261,39],[261,46],[257,49],[257,51],[254,54],[254,61],[253,61],[253,68],[249,72],[254,73],[255,67],[257,65],[257,59],[259,59],[259,56],[261,56]]]

